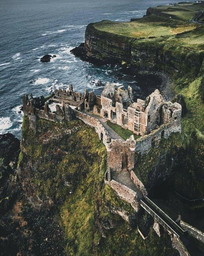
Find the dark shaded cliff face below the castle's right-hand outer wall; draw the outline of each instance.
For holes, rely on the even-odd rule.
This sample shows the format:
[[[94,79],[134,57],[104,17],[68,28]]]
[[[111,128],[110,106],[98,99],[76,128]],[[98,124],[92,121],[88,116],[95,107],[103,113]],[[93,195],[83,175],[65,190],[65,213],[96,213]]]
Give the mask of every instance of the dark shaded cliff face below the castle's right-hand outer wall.
[[[198,130],[191,138],[175,133],[167,140],[162,139],[145,156],[137,154],[135,173],[148,192],[154,186],[167,182],[186,198],[201,198],[204,194],[203,140]]]

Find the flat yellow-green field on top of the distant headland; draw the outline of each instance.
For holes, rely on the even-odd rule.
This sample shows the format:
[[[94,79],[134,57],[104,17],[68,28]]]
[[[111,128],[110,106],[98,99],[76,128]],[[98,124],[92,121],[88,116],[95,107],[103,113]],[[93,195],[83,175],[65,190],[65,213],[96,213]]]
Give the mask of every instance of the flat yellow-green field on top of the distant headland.
[[[93,26],[102,32],[142,39],[161,38],[164,36],[172,39],[181,33],[193,32],[189,41],[186,37],[183,37],[180,40],[181,43],[185,45],[203,45],[204,26],[188,22],[201,10],[204,11],[204,4],[194,5],[193,3],[188,3],[174,6],[158,6],[150,8],[148,16],[132,22],[103,20],[102,22],[94,23]],[[201,17],[201,21],[203,19]],[[198,28],[201,28],[199,35],[197,34],[193,37],[192,35]]]

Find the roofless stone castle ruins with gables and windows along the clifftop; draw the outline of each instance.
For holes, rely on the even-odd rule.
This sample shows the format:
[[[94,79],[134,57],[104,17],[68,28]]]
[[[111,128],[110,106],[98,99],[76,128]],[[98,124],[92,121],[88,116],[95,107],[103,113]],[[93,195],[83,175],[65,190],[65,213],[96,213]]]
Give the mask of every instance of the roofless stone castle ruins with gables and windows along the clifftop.
[[[161,125],[172,122],[179,124],[181,120],[181,106],[165,102],[159,90],[145,100],[133,102],[130,86],[125,90],[124,86],[110,83],[106,84],[102,96],[87,90],[84,93],[74,92],[70,85],[68,90],[56,90],[48,102],[43,96],[31,96],[30,99],[25,96],[23,105],[24,112],[36,112],[43,118],[56,121],[63,118],[71,120],[72,110],[92,112],[137,135],[149,134]]]

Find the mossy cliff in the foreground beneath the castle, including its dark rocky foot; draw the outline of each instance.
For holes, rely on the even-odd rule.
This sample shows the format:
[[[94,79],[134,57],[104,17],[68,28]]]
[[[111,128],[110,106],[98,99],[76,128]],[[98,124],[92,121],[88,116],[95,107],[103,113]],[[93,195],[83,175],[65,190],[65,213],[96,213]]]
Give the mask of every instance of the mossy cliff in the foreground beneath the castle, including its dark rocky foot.
[[[143,211],[137,215],[104,184],[105,163],[104,145],[83,122],[55,123],[40,118],[34,133],[25,116],[18,176],[26,198],[14,203],[15,208],[20,206],[13,225],[19,226],[18,241],[27,241],[29,247],[18,242],[16,252],[176,255],[169,236],[164,232],[161,239],[150,227],[151,217]],[[145,245],[137,225],[150,229]],[[17,234],[12,233],[9,237],[16,240]],[[6,250],[7,244],[3,243]]]

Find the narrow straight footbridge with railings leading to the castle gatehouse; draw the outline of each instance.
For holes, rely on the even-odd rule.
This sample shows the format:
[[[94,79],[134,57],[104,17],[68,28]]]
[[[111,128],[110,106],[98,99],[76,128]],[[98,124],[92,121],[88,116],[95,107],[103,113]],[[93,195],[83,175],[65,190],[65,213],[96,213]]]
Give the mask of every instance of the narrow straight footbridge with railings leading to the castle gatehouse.
[[[183,235],[187,230],[183,230],[175,221],[173,221],[164,211],[162,211],[147,196],[140,200],[140,205],[145,209],[159,224],[161,224],[171,234],[177,237]]]

